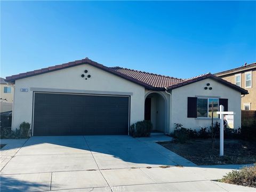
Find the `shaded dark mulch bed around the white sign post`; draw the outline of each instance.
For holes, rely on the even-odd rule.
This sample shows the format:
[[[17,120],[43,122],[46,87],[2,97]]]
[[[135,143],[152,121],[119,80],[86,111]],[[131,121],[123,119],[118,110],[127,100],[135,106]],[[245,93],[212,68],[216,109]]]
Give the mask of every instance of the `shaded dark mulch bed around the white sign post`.
[[[158,142],[163,147],[177,153],[197,165],[252,164],[256,162],[256,142],[228,140],[224,142],[224,156],[219,156],[219,140],[193,139],[186,143],[175,141]]]

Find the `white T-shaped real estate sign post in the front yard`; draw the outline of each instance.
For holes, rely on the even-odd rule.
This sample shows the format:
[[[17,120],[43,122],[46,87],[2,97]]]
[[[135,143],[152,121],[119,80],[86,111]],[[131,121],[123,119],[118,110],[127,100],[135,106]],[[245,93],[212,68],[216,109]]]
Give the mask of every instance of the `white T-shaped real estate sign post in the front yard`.
[[[217,111],[220,115],[220,156],[224,155],[224,115],[234,115],[233,111],[224,111],[224,107],[220,106],[220,111]]]

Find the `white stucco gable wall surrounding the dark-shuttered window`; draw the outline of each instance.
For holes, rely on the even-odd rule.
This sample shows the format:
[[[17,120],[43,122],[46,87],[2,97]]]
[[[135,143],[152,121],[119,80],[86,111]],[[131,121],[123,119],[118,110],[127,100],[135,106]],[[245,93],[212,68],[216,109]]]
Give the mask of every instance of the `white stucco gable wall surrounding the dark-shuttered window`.
[[[210,83],[212,90],[204,90],[207,83]],[[192,83],[186,86],[172,90],[172,112],[171,112],[171,131],[174,131],[175,124],[181,123],[183,127],[199,130],[200,127],[211,126],[211,118],[198,119],[187,118],[187,102],[188,97],[207,96],[220,97],[228,99],[228,110],[234,111],[234,127],[241,127],[241,93],[222,85],[212,79],[204,79],[202,81]],[[215,122],[216,120],[214,120]]]

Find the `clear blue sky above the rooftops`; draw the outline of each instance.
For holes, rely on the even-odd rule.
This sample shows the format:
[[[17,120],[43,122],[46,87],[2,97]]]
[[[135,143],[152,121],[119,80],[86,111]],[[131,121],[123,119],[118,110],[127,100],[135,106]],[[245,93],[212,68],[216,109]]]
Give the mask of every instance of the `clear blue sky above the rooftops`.
[[[89,57],[186,78],[256,61],[256,2],[3,2],[1,77]]]

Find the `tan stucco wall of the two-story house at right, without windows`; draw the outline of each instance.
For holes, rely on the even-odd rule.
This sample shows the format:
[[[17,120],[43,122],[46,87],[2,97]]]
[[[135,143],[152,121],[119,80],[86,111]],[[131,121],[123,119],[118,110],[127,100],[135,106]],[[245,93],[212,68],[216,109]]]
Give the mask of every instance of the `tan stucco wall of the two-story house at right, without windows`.
[[[250,71],[250,70],[249,70]],[[252,70],[252,87],[245,88],[245,73],[247,71],[242,71],[235,74],[230,74],[227,76],[223,76],[221,78],[226,81],[235,84],[235,75],[241,74],[241,87],[246,89],[249,94],[242,95],[241,97],[241,109],[244,110],[244,103],[251,103],[251,110],[256,110],[256,69]]]

